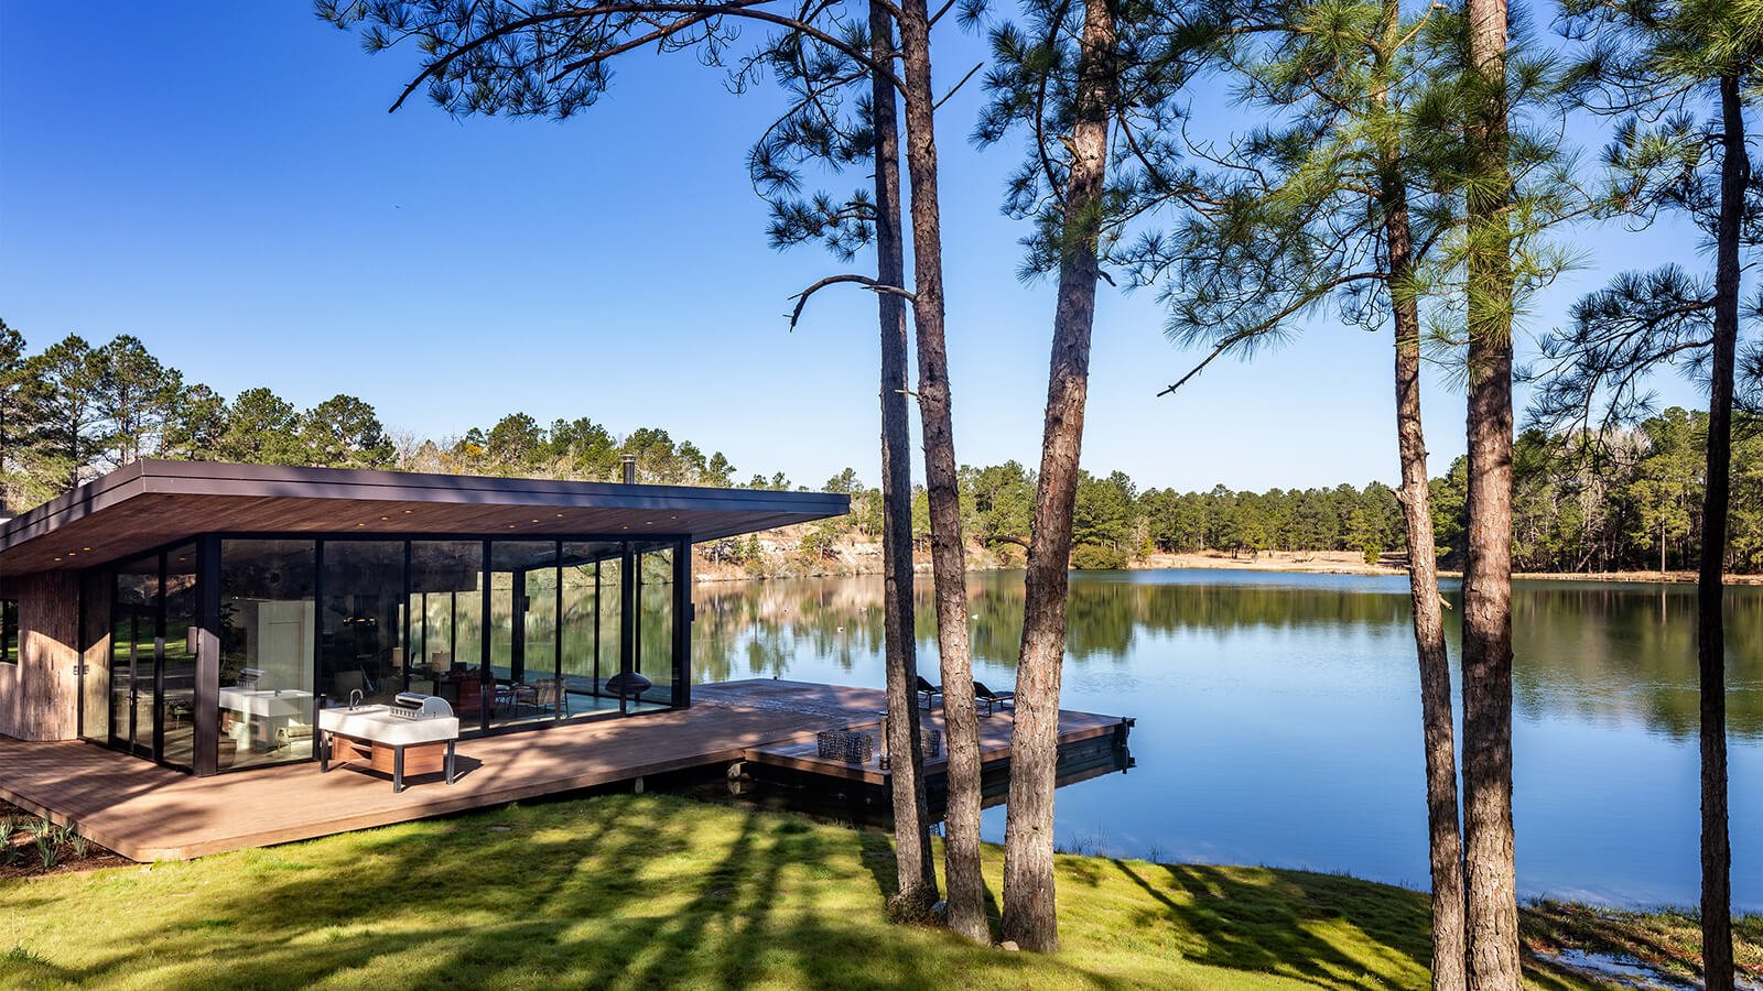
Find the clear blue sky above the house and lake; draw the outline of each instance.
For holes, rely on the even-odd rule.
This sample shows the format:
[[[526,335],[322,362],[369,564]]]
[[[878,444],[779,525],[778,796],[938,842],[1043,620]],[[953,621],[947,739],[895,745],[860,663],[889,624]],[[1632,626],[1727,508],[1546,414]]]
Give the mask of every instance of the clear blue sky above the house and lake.
[[[940,44],[948,85],[980,48]],[[388,115],[414,67],[414,51],[363,55],[300,0],[0,0],[0,317],[33,347],[134,333],[227,397],[356,393],[416,436],[585,414],[663,427],[742,476],[876,481],[873,300],[823,293],[790,333],[788,296],[837,263],[767,249],[746,182],[776,92],[733,97],[689,56],[638,55],[566,123],[421,101]],[[1015,279],[1023,227],[998,212],[1015,152],[966,143],[978,101],[957,93],[938,141],[956,444],[966,464],[1033,464],[1051,287]],[[1238,111],[1201,93],[1197,115]],[[1673,231],[1585,243],[1592,265],[1532,328],[1611,270],[1694,250]],[[1179,488],[1395,478],[1387,333],[1320,319],[1155,399],[1192,361],[1160,328],[1148,293],[1104,287],[1091,471]],[[1426,402],[1442,473],[1462,397],[1432,383]]]

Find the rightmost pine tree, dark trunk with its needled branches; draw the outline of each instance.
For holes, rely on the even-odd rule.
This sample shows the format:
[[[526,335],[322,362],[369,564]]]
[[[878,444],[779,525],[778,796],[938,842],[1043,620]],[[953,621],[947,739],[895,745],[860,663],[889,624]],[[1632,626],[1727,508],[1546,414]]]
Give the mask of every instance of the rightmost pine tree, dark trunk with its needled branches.
[[[1701,931],[1707,986],[1731,989],[1731,845],[1726,802],[1724,570],[1731,513],[1733,411],[1744,351],[1744,252],[1754,250],[1756,187],[1745,104],[1763,83],[1756,0],[1571,0],[1569,34],[1587,51],[1571,81],[1581,106],[1618,120],[1606,152],[1611,199],[1631,220],[1689,215],[1714,247],[1710,277],[1675,265],[1624,273],[1581,300],[1544,344],[1537,416],[1597,434],[1648,407],[1640,383],[1680,365],[1708,386],[1707,487],[1696,587],[1701,682]],[[1698,104],[1707,116],[1698,116]],[[1756,346],[1754,346],[1756,347]],[[1763,370],[1763,347],[1744,354]],[[1668,525],[1668,524],[1666,524]]]

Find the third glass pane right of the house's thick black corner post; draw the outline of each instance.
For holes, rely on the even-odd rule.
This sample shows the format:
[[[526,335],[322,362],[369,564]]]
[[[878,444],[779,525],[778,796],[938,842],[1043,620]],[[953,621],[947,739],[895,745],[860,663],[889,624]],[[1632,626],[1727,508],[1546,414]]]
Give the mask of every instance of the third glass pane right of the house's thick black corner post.
[[[439,695],[467,730],[481,725],[483,693],[483,541],[411,541],[411,638],[421,656],[411,689]]]

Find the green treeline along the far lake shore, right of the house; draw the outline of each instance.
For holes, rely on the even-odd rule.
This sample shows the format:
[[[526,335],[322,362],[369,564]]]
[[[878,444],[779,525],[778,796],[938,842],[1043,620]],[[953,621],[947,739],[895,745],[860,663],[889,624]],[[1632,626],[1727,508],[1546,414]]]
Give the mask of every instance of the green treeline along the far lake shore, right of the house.
[[[1633,428],[1587,434],[1525,430],[1514,448],[1513,552],[1525,571],[1692,570],[1701,547],[1707,413],[1670,407]],[[855,473],[827,481],[852,494],[846,520],[818,525],[820,547],[841,529],[878,533],[880,494]],[[1442,561],[1460,561],[1467,525],[1467,462],[1432,480],[1432,513]],[[961,469],[963,529],[975,541],[1019,563],[1028,547],[1035,478],[1017,462]],[[922,492],[913,499],[913,533],[929,538]],[[1141,490],[1125,473],[1084,473],[1072,517],[1075,568],[1123,568],[1153,552],[1352,550],[1375,563],[1407,554],[1396,492],[1363,487],[1234,492]],[[813,550],[813,547],[811,547]],[[1763,571],[1763,432],[1733,446],[1728,570]]]

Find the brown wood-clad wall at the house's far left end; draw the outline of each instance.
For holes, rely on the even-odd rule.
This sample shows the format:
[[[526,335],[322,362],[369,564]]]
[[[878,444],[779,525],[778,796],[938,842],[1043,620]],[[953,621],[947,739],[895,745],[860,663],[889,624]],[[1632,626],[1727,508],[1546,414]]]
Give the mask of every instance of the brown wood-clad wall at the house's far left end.
[[[79,735],[79,577],[41,571],[0,582],[18,600],[18,663],[0,663],[0,734],[21,741]]]

